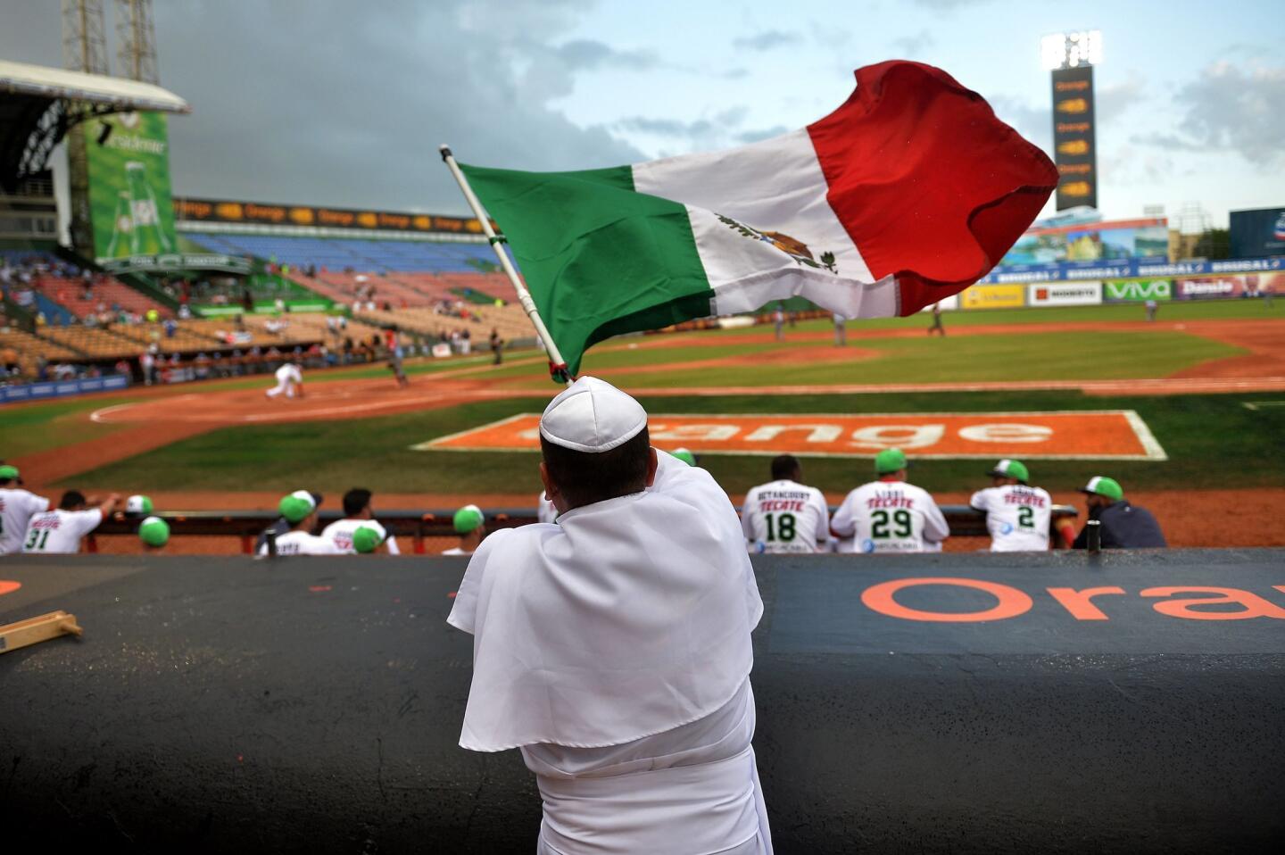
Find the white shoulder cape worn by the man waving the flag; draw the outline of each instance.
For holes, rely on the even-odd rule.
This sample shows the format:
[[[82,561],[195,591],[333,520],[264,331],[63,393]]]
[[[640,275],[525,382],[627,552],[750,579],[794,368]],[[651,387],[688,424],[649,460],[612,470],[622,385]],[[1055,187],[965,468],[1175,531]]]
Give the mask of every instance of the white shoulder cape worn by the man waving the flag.
[[[658,456],[646,491],[473,554],[447,618],[474,636],[461,747],[621,744],[740,689],[763,613],[740,522],[709,473]]]

